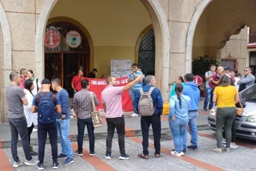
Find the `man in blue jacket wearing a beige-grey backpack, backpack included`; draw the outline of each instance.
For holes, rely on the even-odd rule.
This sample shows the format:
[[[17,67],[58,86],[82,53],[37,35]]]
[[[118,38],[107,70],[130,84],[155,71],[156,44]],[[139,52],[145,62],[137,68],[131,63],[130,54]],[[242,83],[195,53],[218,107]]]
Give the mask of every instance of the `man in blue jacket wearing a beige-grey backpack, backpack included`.
[[[138,157],[149,159],[149,127],[152,125],[155,157],[160,157],[160,138],[161,138],[161,115],[163,112],[163,99],[161,92],[155,88],[155,77],[146,76],[146,86],[140,88],[137,92],[135,103],[141,116],[140,125],[142,129],[142,146],[143,153]]]

